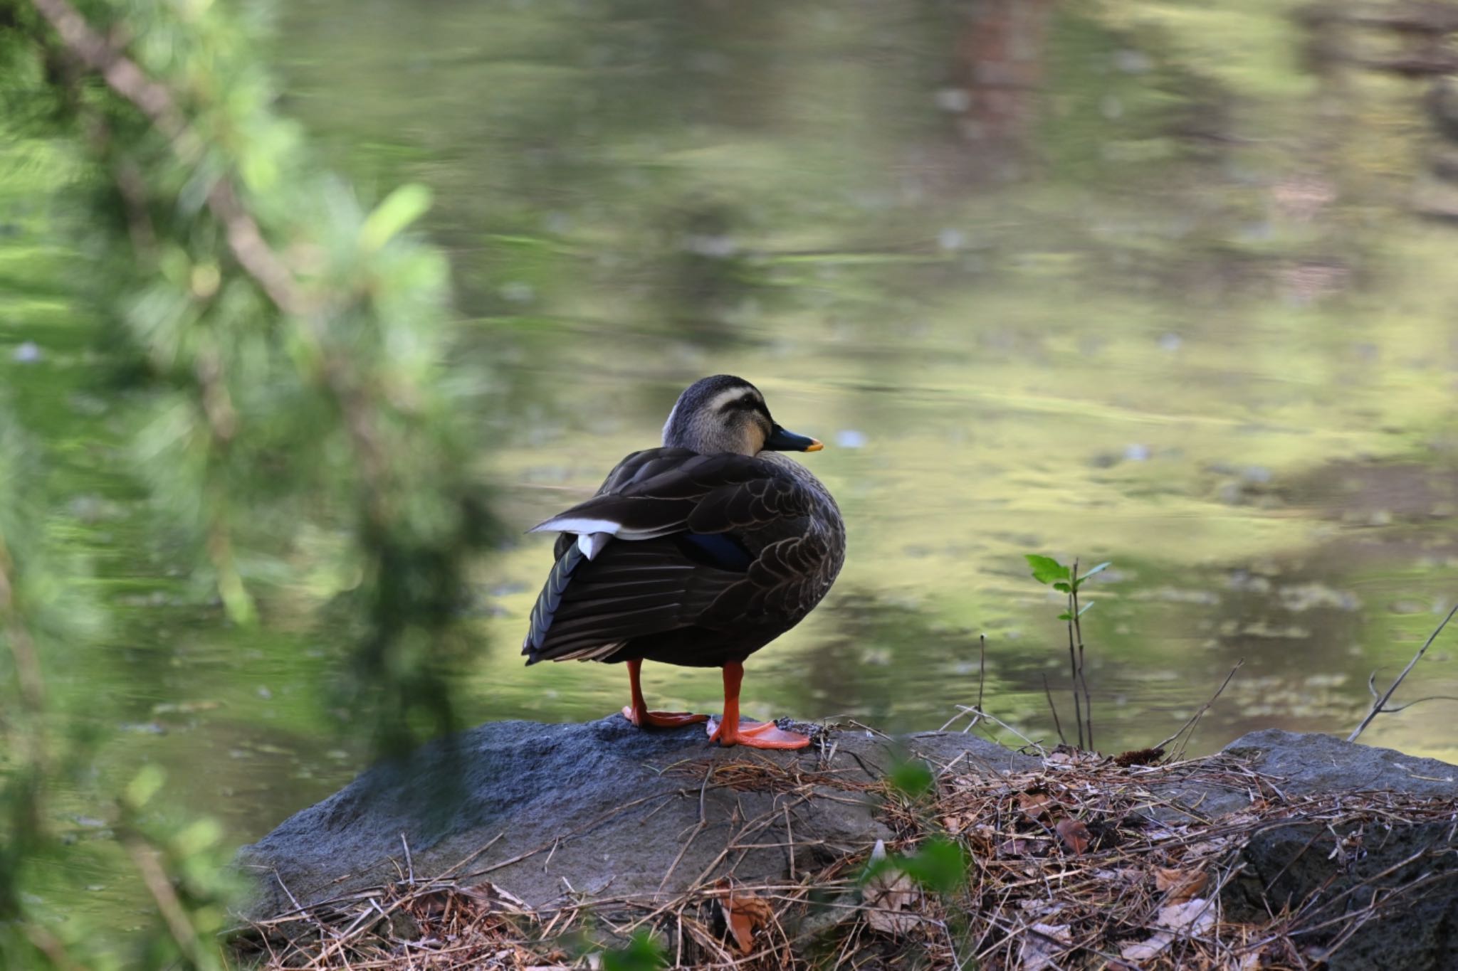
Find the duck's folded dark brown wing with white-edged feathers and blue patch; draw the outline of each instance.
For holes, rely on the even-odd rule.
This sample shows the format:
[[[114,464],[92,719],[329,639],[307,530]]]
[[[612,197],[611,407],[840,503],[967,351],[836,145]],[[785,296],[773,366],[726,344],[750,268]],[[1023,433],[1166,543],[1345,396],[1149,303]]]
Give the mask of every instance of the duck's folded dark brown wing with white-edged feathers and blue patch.
[[[628,456],[596,496],[535,527],[564,536],[522,654],[528,664],[607,659],[634,638],[793,613],[825,555],[805,528],[812,502],[793,476],[749,456]],[[752,550],[746,531],[771,542]]]

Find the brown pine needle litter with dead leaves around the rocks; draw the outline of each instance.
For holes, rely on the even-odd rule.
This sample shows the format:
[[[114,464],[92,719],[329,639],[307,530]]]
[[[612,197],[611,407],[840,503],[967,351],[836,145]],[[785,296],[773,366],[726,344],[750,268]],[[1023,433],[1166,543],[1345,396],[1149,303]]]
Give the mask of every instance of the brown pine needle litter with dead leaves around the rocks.
[[[962,846],[967,872],[959,887],[917,885],[894,868],[866,879],[866,852],[781,882],[741,882],[732,878],[736,853],[763,846],[774,823],[746,820],[720,857],[730,875],[706,876],[682,894],[569,892],[551,908],[532,910],[507,887],[402,872],[394,884],[254,923],[233,946],[245,965],[270,971],[652,967],[611,954],[643,933],[674,968],[1251,971],[1317,967],[1388,908],[1442,889],[1441,875],[1432,872],[1382,894],[1371,892],[1372,878],[1341,892],[1271,904],[1257,920],[1228,919],[1222,889],[1241,873],[1241,849],[1257,834],[1314,824],[1337,839],[1333,855],[1359,855],[1363,843],[1375,844],[1397,827],[1458,828],[1458,801],[1394,792],[1287,798],[1280,779],[1228,754],[1169,764],[1118,761],[1060,750],[1035,770],[1005,773],[964,760],[943,766],[935,789],[920,798],[764,758],[677,767],[712,776],[713,785],[805,801],[863,789],[881,801],[882,820],[895,834],[886,840],[892,862],[914,856],[937,834]],[[1175,788],[1233,790],[1250,805],[1206,817],[1198,806],[1174,805],[1168,793]],[[789,852],[795,849],[803,847]],[[1321,850],[1325,855],[1325,846]],[[1439,853],[1452,850],[1439,841],[1404,863]],[[1371,903],[1363,907],[1362,900]]]

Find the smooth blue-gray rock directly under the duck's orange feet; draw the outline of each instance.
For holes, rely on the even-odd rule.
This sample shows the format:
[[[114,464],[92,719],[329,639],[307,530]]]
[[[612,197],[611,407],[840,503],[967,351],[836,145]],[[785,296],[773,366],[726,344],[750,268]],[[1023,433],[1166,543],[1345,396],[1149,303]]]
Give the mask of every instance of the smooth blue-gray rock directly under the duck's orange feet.
[[[640,731],[620,716],[487,724],[407,764],[370,769],[243,847],[241,866],[261,878],[248,910],[278,914],[292,908],[289,894],[311,904],[407,868],[455,866],[455,876],[490,879],[532,907],[574,891],[674,894],[729,871],[781,878],[792,859],[803,872],[889,836],[859,789],[910,756],[991,767],[1026,758],[967,735],[891,744],[838,731],[800,753],[768,753],[710,745],[703,725]],[[738,788],[709,777],[713,766],[746,760],[787,772]],[[828,798],[811,805],[806,792]]]

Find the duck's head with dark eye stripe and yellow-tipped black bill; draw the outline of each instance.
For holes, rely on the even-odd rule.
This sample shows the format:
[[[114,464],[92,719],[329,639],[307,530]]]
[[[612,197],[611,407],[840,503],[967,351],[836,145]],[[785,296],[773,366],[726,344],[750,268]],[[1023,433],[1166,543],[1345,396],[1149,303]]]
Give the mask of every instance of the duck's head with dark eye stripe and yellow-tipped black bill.
[[[760,389],[732,374],[716,374],[690,384],[663,424],[663,444],[712,456],[736,451],[819,451],[808,435],[786,431],[773,418]]]

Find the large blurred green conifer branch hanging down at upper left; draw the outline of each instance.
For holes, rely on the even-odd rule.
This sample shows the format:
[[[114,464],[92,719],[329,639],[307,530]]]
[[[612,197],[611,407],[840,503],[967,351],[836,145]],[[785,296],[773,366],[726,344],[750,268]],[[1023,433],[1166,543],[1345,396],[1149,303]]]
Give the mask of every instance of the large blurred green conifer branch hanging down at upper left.
[[[330,572],[364,625],[378,742],[398,747],[414,716],[445,728],[426,661],[496,526],[467,472],[467,381],[443,365],[448,268],[405,234],[429,194],[404,186],[369,211],[319,169],[271,108],[245,16],[93,4],[90,41],[61,42],[31,4],[10,7],[6,98],[29,105],[32,131],[79,141],[87,229],[109,230],[89,237],[95,263],[76,282],[131,355],[118,380],[134,383],[133,453],[159,528],[194,550],[239,625],[289,578],[280,536],[341,531]],[[137,90],[98,83],[77,52],[120,35],[137,41],[89,60],[134,58]]]

